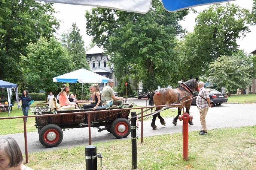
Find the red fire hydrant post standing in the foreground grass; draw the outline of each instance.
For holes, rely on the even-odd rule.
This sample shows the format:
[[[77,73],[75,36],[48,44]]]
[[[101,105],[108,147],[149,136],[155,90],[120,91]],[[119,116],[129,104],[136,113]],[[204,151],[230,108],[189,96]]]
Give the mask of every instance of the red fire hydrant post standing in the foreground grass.
[[[179,115],[179,120],[183,120],[182,126],[182,134],[183,134],[183,159],[188,160],[187,153],[188,153],[188,121],[193,120],[193,116],[189,115],[187,112],[184,112]]]

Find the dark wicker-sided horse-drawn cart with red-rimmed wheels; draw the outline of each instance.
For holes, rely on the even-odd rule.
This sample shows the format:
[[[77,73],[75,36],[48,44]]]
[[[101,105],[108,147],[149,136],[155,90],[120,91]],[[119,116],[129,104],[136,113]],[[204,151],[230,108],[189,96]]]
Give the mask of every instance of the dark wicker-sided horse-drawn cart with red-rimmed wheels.
[[[131,108],[133,105],[123,105],[122,107],[99,108],[96,113],[90,114],[90,126],[99,130],[107,130],[116,138],[125,138],[131,132],[131,125],[128,120],[130,110],[117,110],[118,108]],[[71,110],[51,110],[49,108],[35,108],[35,115],[51,115],[35,117],[35,126],[38,128],[39,141],[47,147],[58,146],[63,139],[62,129],[89,127],[88,111],[92,109],[71,109]],[[64,113],[76,113],[66,114]],[[63,114],[56,115],[53,114]],[[100,127],[104,128],[100,128]]]

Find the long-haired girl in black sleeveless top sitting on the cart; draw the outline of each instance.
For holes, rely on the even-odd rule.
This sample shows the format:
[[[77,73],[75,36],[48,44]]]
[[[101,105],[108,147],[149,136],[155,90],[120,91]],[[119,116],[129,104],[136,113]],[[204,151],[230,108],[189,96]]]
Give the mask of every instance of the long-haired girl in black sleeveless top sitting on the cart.
[[[93,110],[96,110],[98,106],[102,106],[102,100],[101,100],[101,94],[99,91],[99,85],[93,84],[92,85],[92,92],[95,93],[95,97],[93,98],[93,102],[91,104],[85,104],[83,106],[84,109],[93,108]]]

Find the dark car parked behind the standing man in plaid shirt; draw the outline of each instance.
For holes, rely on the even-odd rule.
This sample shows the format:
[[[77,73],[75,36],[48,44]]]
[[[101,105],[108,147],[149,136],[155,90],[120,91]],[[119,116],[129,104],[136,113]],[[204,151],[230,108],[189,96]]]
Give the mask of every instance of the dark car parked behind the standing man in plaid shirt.
[[[206,88],[206,90],[209,93],[210,99],[216,104],[216,105],[221,105],[222,103],[227,102],[227,94],[226,93],[221,93],[215,89],[212,88]],[[198,96],[198,93],[194,94],[193,97]],[[192,100],[192,105],[196,105],[197,98]]]

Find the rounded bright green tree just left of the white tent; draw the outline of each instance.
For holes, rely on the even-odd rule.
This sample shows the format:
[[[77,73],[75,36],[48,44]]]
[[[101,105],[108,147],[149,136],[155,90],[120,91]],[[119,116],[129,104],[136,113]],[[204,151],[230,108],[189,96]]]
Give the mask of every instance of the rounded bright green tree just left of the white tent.
[[[37,43],[27,45],[27,57],[20,55],[22,73],[26,83],[34,85],[36,90],[60,91],[62,83],[53,82],[53,77],[70,72],[73,69],[72,58],[66,48],[56,38],[48,41],[40,37]]]

